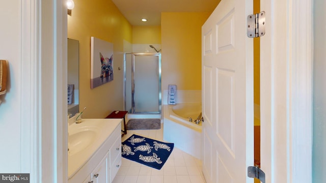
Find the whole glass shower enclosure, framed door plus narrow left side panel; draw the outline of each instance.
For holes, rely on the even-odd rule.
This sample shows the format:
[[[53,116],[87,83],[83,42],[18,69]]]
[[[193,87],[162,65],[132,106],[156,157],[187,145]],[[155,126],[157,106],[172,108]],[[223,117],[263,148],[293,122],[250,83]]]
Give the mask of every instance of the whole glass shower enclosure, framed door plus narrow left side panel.
[[[124,83],[126,111],[161,113],[161,53],[124,53]]]

